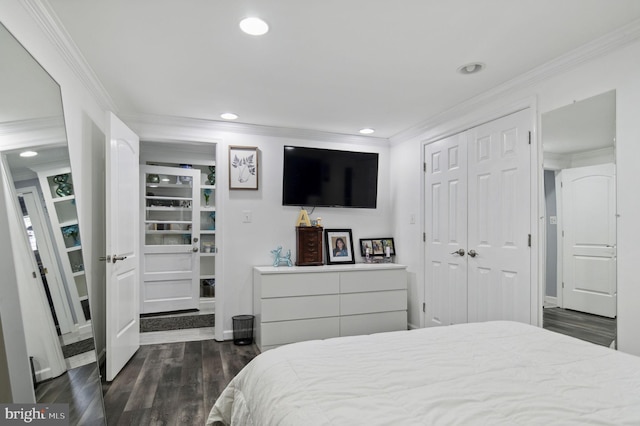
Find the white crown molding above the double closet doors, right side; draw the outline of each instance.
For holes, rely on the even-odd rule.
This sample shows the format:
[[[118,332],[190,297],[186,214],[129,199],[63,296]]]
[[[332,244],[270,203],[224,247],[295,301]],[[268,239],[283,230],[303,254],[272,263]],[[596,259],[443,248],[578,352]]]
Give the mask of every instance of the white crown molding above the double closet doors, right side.
[[[438,113],[417,125],[403,130],[389,138],[390,144],[397,145],[426,133],[429,129],[451,121],[475,109],[493,102],[509,92],[524,89],[536,83],[554,77],[566,70],[591,59],[612,53],[640,39],[640,19],[619,29],[586,43],[573,51],[559,56],[539,67],[519,75],[493,89],[463,101],[446,111]]]

